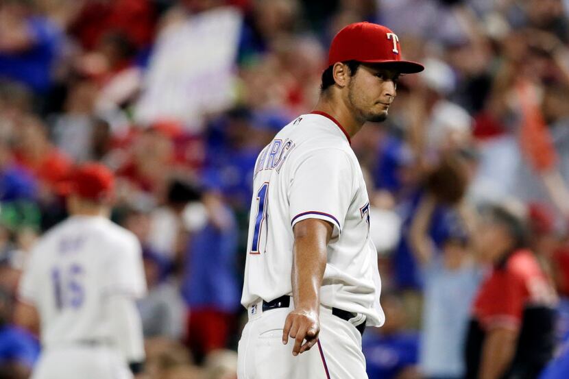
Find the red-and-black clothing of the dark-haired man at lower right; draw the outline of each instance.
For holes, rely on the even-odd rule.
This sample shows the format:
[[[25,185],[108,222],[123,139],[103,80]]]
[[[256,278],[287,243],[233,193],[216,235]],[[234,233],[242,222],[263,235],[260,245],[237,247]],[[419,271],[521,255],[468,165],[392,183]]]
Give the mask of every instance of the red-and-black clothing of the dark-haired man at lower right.
[[[489,273],[474,301],[466,339],[465,379],[478,379],[487,333],[519,331],[516,354],[501,378],[537,378],[555,348],[555,291],[537,259],[520,249]]]

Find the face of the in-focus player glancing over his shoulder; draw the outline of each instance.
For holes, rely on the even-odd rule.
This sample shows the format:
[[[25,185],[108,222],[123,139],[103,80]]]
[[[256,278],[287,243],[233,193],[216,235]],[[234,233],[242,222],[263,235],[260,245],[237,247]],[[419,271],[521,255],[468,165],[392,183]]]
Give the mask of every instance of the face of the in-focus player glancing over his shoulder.
[[[356,117],[361,121],[385,121],[396,97],[398,77],[397,71],[361,64],[348,84],[348,101]]]

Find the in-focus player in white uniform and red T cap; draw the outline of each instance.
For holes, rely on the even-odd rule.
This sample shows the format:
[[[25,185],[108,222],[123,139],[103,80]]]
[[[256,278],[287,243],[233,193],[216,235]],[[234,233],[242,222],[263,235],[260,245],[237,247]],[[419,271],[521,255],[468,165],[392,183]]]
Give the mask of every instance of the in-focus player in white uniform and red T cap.
[[[239,379],[367,378],[361,335],[385,317],[370,201],[350,138],[387,117],[400,73],[422,71],[400,54],[387,27],[343,28],[315,111],[257,158]]]

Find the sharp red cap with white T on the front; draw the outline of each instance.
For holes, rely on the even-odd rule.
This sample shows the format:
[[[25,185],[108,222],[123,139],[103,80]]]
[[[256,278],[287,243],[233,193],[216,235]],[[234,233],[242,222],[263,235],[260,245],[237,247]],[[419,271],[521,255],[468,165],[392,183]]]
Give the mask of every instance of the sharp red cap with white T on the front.
[[[367,22],[344,27],[332,40],[328,66],[347,60],[382,63],[400,73],[419,73],[424,70],[422,64],[401,60],[401,46],[394,32],[383,25]]]

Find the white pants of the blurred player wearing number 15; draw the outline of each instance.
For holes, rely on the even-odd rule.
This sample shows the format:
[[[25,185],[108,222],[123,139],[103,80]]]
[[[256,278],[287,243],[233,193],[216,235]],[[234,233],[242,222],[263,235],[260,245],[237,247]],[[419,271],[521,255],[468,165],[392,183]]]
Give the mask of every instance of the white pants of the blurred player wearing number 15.
[[[32,379],[132,379],[127,363],[109,347],[72,345],[42,352]]]

